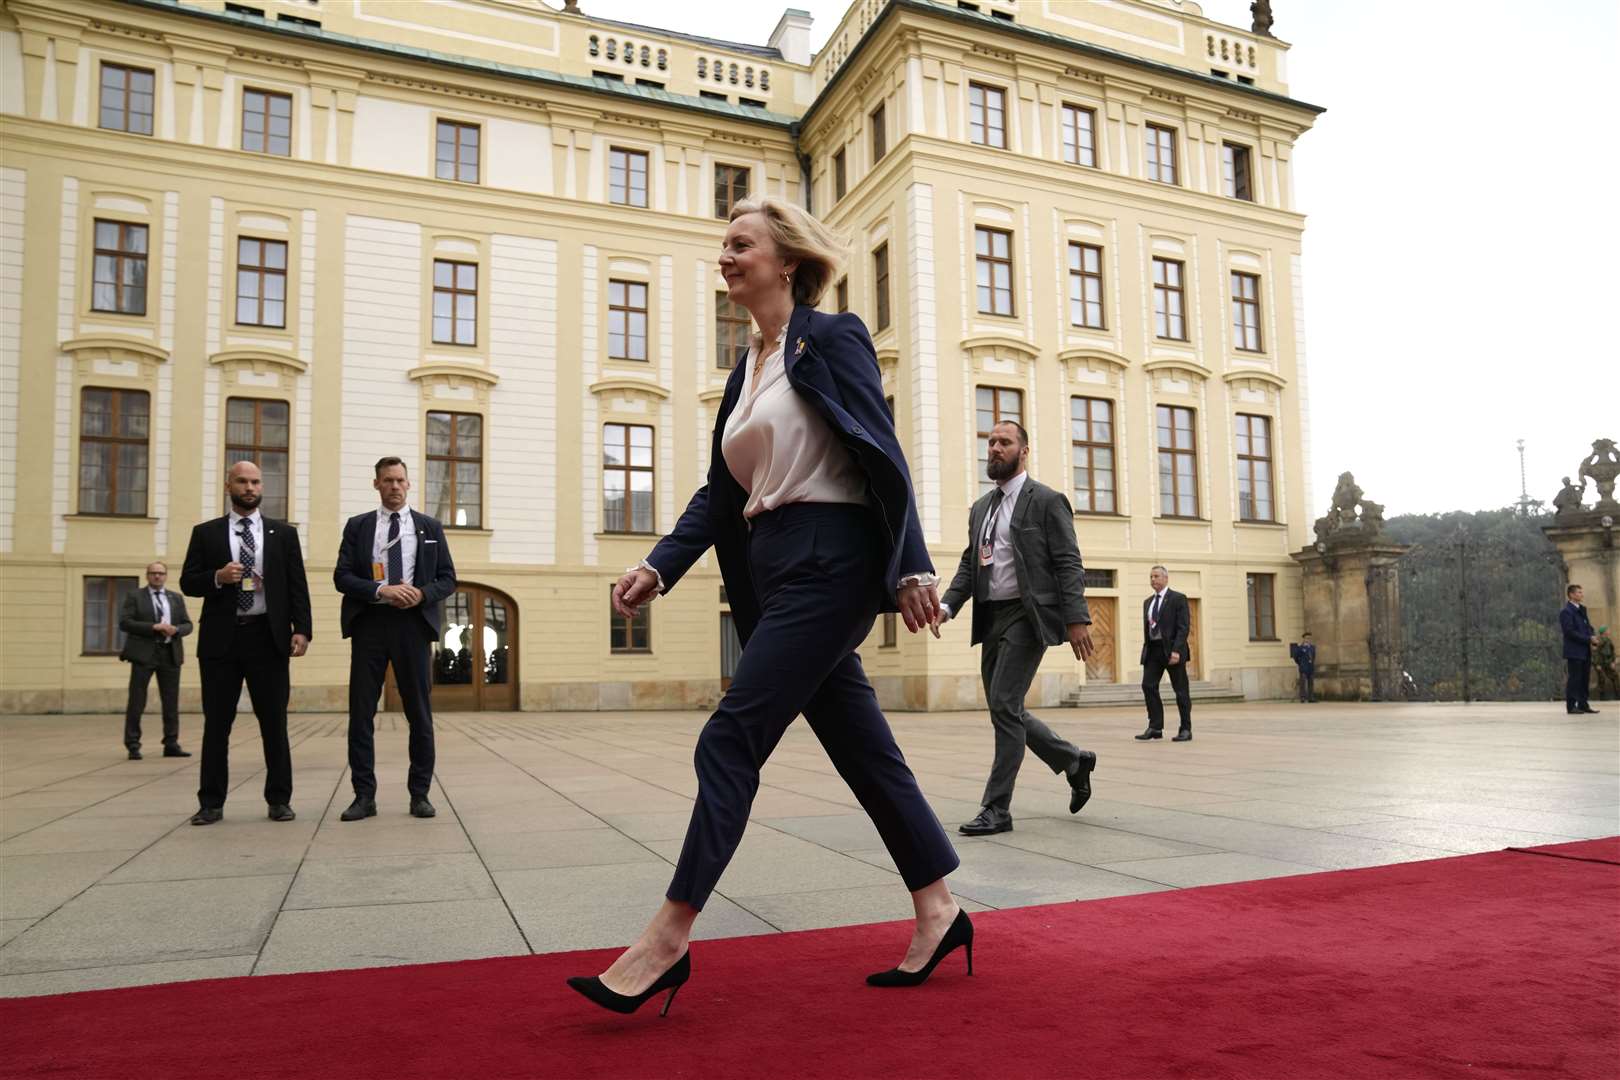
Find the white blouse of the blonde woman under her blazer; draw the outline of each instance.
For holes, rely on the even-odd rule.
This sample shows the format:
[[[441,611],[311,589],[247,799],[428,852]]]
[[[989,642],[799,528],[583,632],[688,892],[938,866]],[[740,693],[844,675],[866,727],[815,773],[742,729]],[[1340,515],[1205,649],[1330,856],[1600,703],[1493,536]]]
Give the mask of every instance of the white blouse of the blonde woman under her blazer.
[[[867,502],[867,476],[828,423],[787,381],[782,337],[753,379],[763,342],[753,335],[737,406],[721,432],[726,468],[748,492],[742,515],[752,518],[791,502]]]

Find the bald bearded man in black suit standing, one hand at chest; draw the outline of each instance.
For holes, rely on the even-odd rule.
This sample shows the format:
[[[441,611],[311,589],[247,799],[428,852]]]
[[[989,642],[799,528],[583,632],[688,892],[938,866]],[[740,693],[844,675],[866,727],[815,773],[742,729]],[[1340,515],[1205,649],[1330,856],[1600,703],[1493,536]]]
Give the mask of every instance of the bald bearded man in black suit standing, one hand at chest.
[[[271,821],[292,821],[293,755],[287,743],[288,657],[309,648],[309,583],[298,529],[259,513],[262,479],[253,461],[225,473],[230,513],[191,529],[180,588],[202,597],[202,782],[191,824],[224,816],[230,727],[248,682],[264,742],[264,801]]]

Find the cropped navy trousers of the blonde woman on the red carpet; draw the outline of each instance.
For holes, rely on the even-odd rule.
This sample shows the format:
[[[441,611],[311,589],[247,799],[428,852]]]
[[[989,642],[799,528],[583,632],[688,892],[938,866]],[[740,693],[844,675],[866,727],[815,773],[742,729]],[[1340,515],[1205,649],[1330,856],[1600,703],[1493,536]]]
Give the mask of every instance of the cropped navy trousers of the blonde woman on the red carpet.
[[[698,797],[671,900],[703,908],[742,840],[760,767],[800,712],[878,827],[906,887],[956,870],[956,848],[855,654],[885,589],[880,534],[872,512],[855,505],[800,502],[753,518],[748,572],[760,623],[698,737]]]

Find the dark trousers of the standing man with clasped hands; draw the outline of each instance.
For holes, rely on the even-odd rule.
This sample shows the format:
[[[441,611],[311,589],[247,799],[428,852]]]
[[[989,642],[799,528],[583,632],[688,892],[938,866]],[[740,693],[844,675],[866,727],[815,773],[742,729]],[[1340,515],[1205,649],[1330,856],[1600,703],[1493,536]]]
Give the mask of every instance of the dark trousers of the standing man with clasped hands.
[[[423,636],[415,609],[377,604],[360,615],[350,636],[348,654],[348,774],[355,795],[377,793],[376,743],[377,696],[389,664],[410,724],[410,772],[405,790],[426,798],[433,784],[433,690],[431,644]]]

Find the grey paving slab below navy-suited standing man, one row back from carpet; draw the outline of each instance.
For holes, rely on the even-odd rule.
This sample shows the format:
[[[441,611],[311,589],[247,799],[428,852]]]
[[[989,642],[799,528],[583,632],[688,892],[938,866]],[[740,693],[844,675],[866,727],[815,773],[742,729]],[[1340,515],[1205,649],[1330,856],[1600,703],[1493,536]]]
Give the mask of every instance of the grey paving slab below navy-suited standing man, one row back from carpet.
[[[489,900],[494,895],[489,871],[476,855],[369,855],[306,861],[282,910]]]

